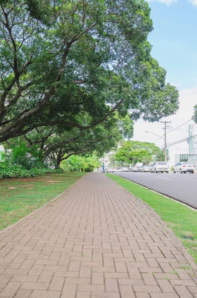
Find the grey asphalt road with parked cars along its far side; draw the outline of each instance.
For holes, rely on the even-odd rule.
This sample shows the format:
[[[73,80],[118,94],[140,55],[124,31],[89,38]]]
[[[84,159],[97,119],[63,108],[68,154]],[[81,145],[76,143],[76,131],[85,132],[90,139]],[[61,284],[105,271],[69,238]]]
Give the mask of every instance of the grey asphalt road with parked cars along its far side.
[[[197,174],[114,173],[197,209]]]

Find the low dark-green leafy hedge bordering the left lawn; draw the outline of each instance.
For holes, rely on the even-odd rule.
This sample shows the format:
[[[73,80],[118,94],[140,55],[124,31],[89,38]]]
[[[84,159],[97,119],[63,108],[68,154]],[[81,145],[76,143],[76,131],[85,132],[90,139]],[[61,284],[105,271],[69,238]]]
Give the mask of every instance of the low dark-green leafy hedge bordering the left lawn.
[[[61,169],[33,168],[31,170],[23,170],[17,166],[0,167],[0,179],[2,179],[2,178],[28,178],[28,177],[35,177],[37,175],[62,174],[62,173],[64,173],[64,171]]]

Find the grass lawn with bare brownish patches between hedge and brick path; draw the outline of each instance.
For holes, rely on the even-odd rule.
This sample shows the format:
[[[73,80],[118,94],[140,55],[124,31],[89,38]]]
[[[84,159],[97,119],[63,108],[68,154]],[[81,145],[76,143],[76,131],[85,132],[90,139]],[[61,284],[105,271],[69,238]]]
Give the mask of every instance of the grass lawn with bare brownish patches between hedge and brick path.
[[[0,179],[0,229],[57,197],[84,174],[79,172]]]

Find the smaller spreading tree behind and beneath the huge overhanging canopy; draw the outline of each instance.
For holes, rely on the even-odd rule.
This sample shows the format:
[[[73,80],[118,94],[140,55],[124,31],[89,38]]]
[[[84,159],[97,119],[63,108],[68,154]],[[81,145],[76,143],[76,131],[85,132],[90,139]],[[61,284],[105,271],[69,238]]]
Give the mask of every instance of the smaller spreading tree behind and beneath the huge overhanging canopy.
[[[97,152],[99,156],[104,152],[116,149],[119,142],[125,138],[131,138],[133,135],[133,122],[126,117],[118,117],[115,112],[114,117],[92,127],[89,130],[80,130],[71,128],[65,130],[64,125],[53,127],[40,127],[32,130],[26,135],[20,137],[22,146],[28,152],[36,151],[40,156],[40,161],[52,161],[57,168],[60,163],[71,155]],[[6,149],[12,149],[18,146],[18,138],[12,138],[4,142]]]

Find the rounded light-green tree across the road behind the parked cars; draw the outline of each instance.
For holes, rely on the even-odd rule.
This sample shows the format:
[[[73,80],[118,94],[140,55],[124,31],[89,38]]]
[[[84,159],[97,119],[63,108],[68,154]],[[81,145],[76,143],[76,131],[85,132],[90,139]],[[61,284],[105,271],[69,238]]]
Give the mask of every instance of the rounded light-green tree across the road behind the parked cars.
[[[150,162],[152,156],[159,151],[160,149],[153,143],[126,141],[117,150],[116,158],[119,161],[134,164],[142,161]]]

